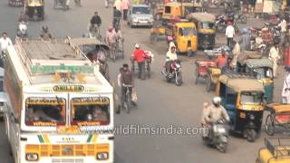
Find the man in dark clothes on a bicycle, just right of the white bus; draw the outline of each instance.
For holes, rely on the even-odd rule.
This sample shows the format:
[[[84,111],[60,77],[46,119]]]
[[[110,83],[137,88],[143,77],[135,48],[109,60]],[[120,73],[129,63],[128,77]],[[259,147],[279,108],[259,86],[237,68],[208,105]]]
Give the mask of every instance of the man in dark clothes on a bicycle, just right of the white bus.
[[[125,96],[127,88],[125,85],[131,85],[132,87],[129,87],[129,91],[132,94],[132,88],[134,86],[134,78],[129,70],[129,65],[127,63],[123,64],[122,71],[121,71],[121,107],[124,108],[125,103]]]

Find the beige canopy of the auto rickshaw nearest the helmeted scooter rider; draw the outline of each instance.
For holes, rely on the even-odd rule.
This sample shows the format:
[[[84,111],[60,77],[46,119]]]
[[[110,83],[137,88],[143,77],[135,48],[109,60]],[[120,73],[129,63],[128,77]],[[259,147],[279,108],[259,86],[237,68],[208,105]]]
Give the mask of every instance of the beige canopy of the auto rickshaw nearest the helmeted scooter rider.
[[[219,77],[218,82],[224,83],[234,91],[265,91],[263,83],[258,82],[254,78],[228,76],[224,74]]]

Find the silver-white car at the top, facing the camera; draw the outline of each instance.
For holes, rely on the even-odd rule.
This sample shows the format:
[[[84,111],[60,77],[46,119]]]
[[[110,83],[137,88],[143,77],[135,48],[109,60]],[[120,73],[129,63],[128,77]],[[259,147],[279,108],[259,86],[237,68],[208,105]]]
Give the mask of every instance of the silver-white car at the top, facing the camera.
[[[148,5],[132,5],[128,12],[128,24],[134,26],[149,26],[153,25],[153,14]]]

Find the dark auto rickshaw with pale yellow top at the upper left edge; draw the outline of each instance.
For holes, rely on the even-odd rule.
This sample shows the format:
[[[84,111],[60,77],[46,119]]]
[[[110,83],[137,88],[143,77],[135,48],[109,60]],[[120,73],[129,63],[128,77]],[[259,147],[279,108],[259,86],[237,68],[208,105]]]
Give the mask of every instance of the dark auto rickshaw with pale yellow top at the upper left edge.
[[[24,9],[30,19],[44,20],[44,0],[25,0]]]

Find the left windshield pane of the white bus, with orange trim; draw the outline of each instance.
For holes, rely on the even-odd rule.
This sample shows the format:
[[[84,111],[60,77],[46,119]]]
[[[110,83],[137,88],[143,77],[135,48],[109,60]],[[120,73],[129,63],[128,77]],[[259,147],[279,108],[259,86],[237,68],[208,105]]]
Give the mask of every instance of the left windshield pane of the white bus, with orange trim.
[[[65,124],[64,98],[27,98],[25,124],[28,126],[57,126]]]

